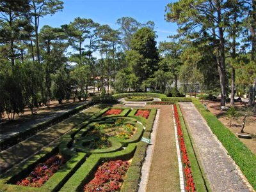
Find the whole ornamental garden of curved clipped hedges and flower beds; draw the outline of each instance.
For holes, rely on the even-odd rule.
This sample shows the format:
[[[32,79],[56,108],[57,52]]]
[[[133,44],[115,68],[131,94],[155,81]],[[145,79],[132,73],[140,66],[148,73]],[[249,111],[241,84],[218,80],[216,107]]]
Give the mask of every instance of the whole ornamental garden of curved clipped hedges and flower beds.
[[[140,139],[149,137],[156,115],[156,110],[148,112],[143,117],[131,114],[129,108],[105,108],[63,135],[60,145],[1,175],[1,190],[88,191],[95,187],[136,191],[148,145]],[[109,166],[115,174],[99,174]],[[95,186],[97,179],[102,181],[99,186]]]

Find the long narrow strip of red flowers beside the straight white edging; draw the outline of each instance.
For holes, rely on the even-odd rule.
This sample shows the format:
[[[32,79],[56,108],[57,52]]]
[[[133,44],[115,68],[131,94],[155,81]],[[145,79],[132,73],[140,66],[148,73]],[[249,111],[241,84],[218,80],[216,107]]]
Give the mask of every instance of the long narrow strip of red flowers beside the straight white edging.
[[[182,163],[184,165],[184,174],[185,174],[185,179],[186,179],[186,191],[193,192],[193,191],[196,191],[195,182],[194,182],[193,175],[191,172],[190,163],[189,163],[189,159],[188,159],[188,153],[186,150],[186,145],[184,142],[184,137],[183,137],[182,129],[180,126],[179,114],[177,112],[176,105],[173,105],[173,108],[174,108],[174,117],[175,117],[175,121],[176,121],[176,125],[177,125],[177,132],[178,132],[178,136],[179,136],[181,158],[182,158]]]

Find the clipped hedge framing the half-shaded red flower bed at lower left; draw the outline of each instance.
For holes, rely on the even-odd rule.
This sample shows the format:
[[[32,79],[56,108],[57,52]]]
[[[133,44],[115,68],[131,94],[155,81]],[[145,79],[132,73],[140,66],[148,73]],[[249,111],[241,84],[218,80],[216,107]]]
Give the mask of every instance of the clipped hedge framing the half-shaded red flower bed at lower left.
[[[68,145],[72,143],[72,137],[84,126],[93,121],[93,119],[101,116],[106,110],[101,110],[97,114],[93,115],[90,120],[84,121],[79,124],[76,128],[69,131],[67,134],[60,138],[60,142],[52,144],[51,146],[39,151],[35,156],[32,156],[23,163],[15,166],[10,172],[6,172],[0,177],[0,189],[3,191],[58,191],[58,189],[63,186],[63,184],[69,179],[69,177],[74,174],[74,172],[83,164],[86,158],[85,153],[77,153],[75,151],[70,151]],[[60,144],[60,145],[59,145]],[[35,165],[44,162],[46,159],[51,157],[53,154],[60,152],[63,154],[65,159],[68,159],[65,165],[61,166],[60,171],[56,172],[51,179],[45,182],[44,186],[41,188],[30,188],[26,186],[17,186],[16,181],[22,179],[24,175],[28,174]]]

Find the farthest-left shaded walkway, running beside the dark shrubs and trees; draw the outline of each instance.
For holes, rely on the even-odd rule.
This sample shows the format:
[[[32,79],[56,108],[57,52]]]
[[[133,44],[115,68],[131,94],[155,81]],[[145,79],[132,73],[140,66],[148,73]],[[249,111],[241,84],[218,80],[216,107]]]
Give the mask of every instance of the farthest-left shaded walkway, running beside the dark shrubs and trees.
[[[76,103],[72,105],[63,106],[62,110],[55,110],[54,108],[51,112],[37,114],[35,116],[27,115],[23,117],[22,120],[15,119],[13,122],[8,122],[7,124],[1,124],[0,126],[0,140],[4,138],[11,137],[19,133],[20,131],[25,131],[26,129],[30,129],[35,127],[37,124],[46,121],[47,119],[53,119],[54,117],[58,117],[65,112],[68,112],[76,107],[84,105],[85,102]]]

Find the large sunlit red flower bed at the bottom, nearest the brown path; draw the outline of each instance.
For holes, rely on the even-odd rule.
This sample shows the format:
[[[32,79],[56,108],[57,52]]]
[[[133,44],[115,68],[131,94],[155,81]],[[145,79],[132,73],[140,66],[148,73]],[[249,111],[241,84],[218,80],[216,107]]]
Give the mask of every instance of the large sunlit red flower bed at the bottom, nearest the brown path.
[[[94,179],[84,186],[84,192],[119,191],[129,168],[127,161],[109,161],[99,166]]]

